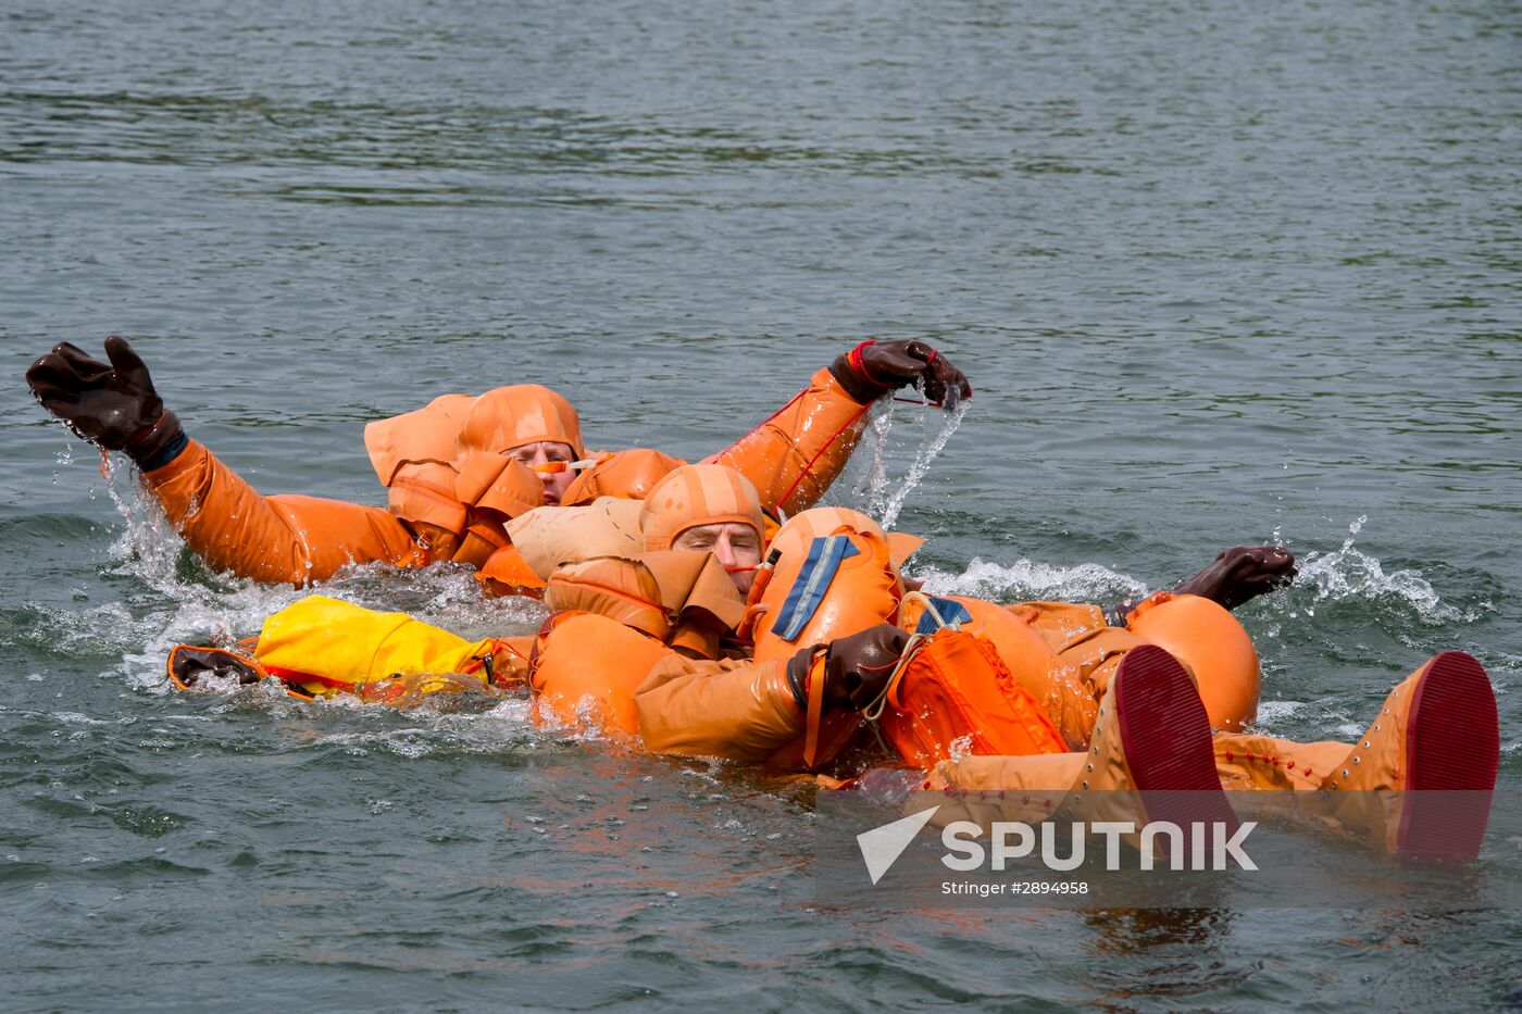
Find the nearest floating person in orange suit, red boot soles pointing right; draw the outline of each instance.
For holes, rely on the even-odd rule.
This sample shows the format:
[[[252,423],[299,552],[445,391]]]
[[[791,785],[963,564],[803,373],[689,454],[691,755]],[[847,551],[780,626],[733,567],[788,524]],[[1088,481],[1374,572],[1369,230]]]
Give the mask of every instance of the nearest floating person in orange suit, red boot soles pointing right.
[[[1247,589],[1224,574],[1227,559],[1186,586],[1239,604]],[[1157,595],[1126,629],[1085,635],[1085,623],[1102,623],[1084,617],[1094,607],[906,595],[881,530],[839,509],[793,518],[767,560],[775,574],[750,604],[753,659],[662,659],[635,697],[647,749],[817,769],[857,738],[864,714],[903,760],[930,769],[927,787],[991,793],[994,810],[1018,796],[1021,816],[1058,804],[1087,813],[1085,798],[1105,805],[1093,798],[1100,789],[1294,789],[1338,796],[1329,816],[1393,853],[1478,853],[1499,729],[1495,691],[1469,655],[1444,652],[1419,667],[1356,743],[1253,734],[1242,729],[1248,713],[1201,745],[1201,729],[1224,725],[1208,713],[1213,700],[1250,696],[1256,708],[1257,699],[1251,643],[1219,601]],[[995,658],[966,650],[970,632],[947,629],[948,617]],[[1023,700],[1043,705],[1049,735]],[[1000,749],[1012,741],[1024,748]],[[1032,804],[1029,793],[1046,795]]]

